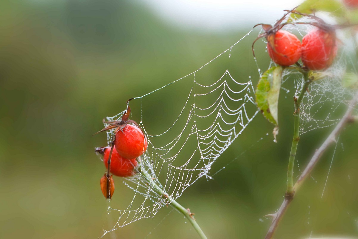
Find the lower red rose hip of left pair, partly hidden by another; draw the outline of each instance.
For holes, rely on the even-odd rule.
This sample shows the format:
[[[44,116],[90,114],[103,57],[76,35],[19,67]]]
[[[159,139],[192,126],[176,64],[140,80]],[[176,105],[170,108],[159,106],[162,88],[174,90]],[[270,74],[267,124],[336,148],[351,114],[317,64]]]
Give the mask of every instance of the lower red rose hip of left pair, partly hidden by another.
[[[103,162],[108,169],[108,157],[110,156],[111,147],[105,149],[103,155]],[[134,168],[137,167],[138,163],[136,159],[125,159],[117,153],[116,148],[113,149],[111,156],[111,173],[118,177],[129,177],[135,174]]]

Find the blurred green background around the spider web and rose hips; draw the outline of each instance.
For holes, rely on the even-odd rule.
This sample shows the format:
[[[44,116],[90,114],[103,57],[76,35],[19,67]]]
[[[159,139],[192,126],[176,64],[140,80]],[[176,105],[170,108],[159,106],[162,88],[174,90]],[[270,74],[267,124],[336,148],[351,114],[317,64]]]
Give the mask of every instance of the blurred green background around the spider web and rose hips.
[[[251,25],[220,31],[175,25],[140,2],[2,0],[0,238],[102,235],[103,224],[107,227],[117,220],[107,216],[99,186],[105,168],[93,150],[104,144],[105,135],[91,137],[103,126],[102,118],[122,111],[128,98],[198,69],[250,29]],[[247,53],[240,61],[252,60],[250,45],[256,34],[237,46]],[[266,53],[257,54],[259,65],[267,67]],[[251,74],[256,85],[256,66],[242,69],[240,61],[234,62],[238,71]],[[256,143],[272,131],[258,115],[245,138],[219,158],[214,172],[253,146],[214,180],[200,179],[179,198],[195,212],[208,238],[263,238],[270,225],[264,215],[280,206],[293,128],[289,99],[294,86],[285,87],[291,93],[280,100],[278,143],[271,135]],[[181,106],[166,107],[161,111]],[[159,110],[153,107],[153,114]],[[301,137],[297,154],[301,169],[329,130]],[[356,125],[347,126],[340,137],[324,197],[333,148],[317,165],[314,179],[297,193],[275,238],[358,234],[357,133]],[[116,184],[113,200],[132,196],[124,185]],[[170,211],[163,208],[154,218],[105,238],[145,238],[149,233],[147,238],[197,238],[183,216],[175,211],[168,215]]]

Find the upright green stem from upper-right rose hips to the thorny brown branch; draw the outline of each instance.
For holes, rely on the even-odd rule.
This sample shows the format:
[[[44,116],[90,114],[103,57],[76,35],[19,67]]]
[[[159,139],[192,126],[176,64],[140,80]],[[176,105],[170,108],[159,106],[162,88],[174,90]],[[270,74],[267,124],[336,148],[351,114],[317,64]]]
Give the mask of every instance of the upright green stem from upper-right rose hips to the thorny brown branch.
[[[301,93],[298,97],[298,99],[295,97],[295,106],[296,111],[294,113],[295,116],[295,123],[294,123],[294,131],[293,131],[293,140],[291,145],[291,151],[290,151],[290,158],[289,158],[289,166],[287,169],[287,189],[286,189],[286,196],[292,196],[294,193],[293,190],[293,169],[295,165],[295,156],[297,151],[297,145],[298,141],[300,140],[300,104],[301,100],[304,96],[304,94],[307,91],[308,85],[311,83],[308,80],[308,73],[305,72],[304,74],[305,84],[303,85],[303,88],[301,90]]]

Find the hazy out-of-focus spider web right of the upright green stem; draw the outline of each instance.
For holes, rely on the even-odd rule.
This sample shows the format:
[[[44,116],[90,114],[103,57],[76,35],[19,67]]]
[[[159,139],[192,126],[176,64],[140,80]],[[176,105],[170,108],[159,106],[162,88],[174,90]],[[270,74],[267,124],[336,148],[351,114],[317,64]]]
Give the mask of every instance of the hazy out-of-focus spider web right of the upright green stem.
[[[307,22],[305,18],[300,19],[300,22],[305,21]],[[298,28],[297,25],[294,25],[288,29],[289,31],[296,30],[301,36],[304,36],[314,27]],[[343,112],[347,109],[349,100],[353,98],[355,93],[354,89],[345,88],[342,85],[348,65],[352,67],[350,71],[357,72],[354,64],[354,62],[357,62],[357,56],[351,54],[351,52],[355,52],[354,44],[345,37],[344,31],[337,31],[337,35],[343,44],[339,47],[340,51],[335,57],[334,64],[324,71],[327,75],[325,78],[314,81],[309,85],[308,91],[302,98],[300,105],[300,134],[337,124]],[[351,64],[347,64],[347,61],[351,62]],[[298,96],[305,82],[301,74],[294,75],[295,95]],[[288,77],[285,80],[287,79]]]

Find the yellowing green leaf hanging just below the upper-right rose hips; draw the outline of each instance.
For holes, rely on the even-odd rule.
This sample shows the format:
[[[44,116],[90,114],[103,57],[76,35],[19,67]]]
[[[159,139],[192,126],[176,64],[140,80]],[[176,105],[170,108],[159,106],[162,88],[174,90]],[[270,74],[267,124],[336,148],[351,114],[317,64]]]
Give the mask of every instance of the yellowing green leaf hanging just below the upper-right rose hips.
[[[265,71],[256,87],[256,104],[263,116],[278,125],[278,103],[282,79],[282,66],[274,66]]]

